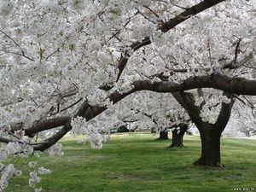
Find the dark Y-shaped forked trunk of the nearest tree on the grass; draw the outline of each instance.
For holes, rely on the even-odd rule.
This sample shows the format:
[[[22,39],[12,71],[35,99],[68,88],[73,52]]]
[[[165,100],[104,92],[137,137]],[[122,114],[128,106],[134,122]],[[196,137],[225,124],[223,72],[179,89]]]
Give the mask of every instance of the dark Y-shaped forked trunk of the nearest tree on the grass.
[[[202,121],[200,117],[202,106],[195,106],[195,97],[191,93],[173,93],[183,108],[189,113],[189,117],[197,126],[201,136],[201,157],[196,160],[196,166],[221,166],[220,160],[220,137],[230,119],[234,101],[230,93],[224,92],[224,96],[231,99],[230,103],[221,103],[218,119],[214,124]]]

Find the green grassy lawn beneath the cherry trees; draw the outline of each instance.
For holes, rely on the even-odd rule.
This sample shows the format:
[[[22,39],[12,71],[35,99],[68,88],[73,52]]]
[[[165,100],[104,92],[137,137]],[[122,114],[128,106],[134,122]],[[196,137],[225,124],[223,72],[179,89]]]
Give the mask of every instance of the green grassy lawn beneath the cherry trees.
[[[115,134],[101,150],[72,137],[61,143],[65,155],[43,155],[38,164],[52,169],[38,187],[48,192],[224,192],[256,191],[256,140],[222,138],[224,168],[192,166],[200,156],[197,136],[185,136],[184,148],[167,149],[168,141],[150,133]],[[11,180],[6,191],[30,192],[28,172]]]

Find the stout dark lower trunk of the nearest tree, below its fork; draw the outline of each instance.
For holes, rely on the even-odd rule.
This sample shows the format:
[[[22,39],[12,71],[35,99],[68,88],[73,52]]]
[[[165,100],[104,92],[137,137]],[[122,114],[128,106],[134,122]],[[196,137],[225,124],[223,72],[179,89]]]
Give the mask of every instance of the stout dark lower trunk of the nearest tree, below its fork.
[[[201,157],[195,161],[194,165],[222,166],[220,161],[221,132],[214,128],[213,126],[201,129]]]

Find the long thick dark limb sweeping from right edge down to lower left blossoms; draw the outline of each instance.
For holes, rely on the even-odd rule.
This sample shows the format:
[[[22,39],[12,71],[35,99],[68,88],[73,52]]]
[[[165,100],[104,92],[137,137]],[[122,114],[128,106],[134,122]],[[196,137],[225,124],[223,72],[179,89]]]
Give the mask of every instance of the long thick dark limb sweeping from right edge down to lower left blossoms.
[[[228,76],[217,73],[212,73],[212,75],[206,76],[191,77],[189,79],[183,80],[183,82],[180,84],[172,82],[152,82],[150,80],[138,80],[131,85],[133,86],[132,90],[124,94],[120,94],[118,91],[114,91],[108,96],[109,100],[114,104],[125,98],[125,96],[129,96],[131,93],[139,90],[152,90],[155,92],[178,92],[196,88],[214,88],[238,95],[256,96],[256,80],[230,78]],[[90,120],[106,109],[107,106],[90,106],[88,102],[84,102],[82,107],[79,108],[79,112],[76,113],[74,117],[82,116],[85,119]],[[35,149],[44,150],[59,141],[61,137],[65,136],[67,132],[72,129],[70,123],[71,121],[64,125],[61,128],[61,131],[58,131],[54,136],[49,137],[45,141],[48,142],[48,144],[35,146]]]

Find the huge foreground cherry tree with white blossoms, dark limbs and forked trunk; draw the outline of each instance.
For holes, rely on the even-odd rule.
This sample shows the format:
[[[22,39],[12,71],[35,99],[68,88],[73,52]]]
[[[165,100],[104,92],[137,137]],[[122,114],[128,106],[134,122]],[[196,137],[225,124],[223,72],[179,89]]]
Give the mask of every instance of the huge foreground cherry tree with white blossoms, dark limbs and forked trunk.
[[[114,125],[102,115],[142,90],[172,93],[201,132],[197,164],[220,164],[234,98],[256,95],[255,0],[0,4],[0,190],[20,175],[3,164],[9,155],[62,154],[70,131],[99,148]],[[43,170],[34,164],[33,188]]]

